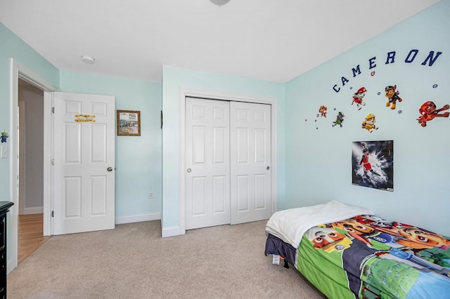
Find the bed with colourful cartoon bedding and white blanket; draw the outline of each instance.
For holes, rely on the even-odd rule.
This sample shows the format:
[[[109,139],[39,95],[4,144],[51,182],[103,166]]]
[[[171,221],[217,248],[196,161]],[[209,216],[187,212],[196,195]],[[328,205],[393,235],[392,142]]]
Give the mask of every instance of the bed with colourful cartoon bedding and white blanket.
[[[265,231],[265,255],[328,298],[450,298],[448,237],[339,201],[278,211]]]

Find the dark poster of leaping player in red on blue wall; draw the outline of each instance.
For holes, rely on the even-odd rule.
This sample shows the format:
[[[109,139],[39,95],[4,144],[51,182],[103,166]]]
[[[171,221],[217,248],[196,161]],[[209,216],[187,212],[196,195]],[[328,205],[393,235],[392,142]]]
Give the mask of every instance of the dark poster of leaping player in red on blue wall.
[[[394,141],[352,142],[352,184],[394,191]]]

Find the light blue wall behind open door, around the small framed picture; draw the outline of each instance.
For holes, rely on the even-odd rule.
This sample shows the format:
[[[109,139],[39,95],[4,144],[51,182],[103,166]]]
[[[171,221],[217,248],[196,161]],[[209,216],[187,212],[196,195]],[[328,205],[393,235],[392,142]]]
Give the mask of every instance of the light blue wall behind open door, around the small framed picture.
[[[116,109],[141,112],[141,136],[116,136],[115,216],[161,212],[161,84],[60,72],[60,91],[114,95]],[[148,199],[153,191],[154,199]],[[160,215],[157,217],[159,218]]]

